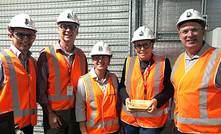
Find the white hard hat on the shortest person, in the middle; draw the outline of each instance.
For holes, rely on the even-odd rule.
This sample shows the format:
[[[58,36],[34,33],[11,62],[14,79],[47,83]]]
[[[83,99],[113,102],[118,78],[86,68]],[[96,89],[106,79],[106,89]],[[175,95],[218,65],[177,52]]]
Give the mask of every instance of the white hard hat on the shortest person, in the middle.
[[[91,56],[93,56],[93,55],[110,55],[110,56],[112,56],[113,54],[111,52],[110,47],[106,43],[97,42],[93,46],[90,55]]]

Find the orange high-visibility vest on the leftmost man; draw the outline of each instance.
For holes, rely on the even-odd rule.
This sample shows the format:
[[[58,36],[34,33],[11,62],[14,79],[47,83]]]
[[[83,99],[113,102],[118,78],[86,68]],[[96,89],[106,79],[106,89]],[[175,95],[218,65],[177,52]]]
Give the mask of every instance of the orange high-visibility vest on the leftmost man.
[[[13,111],[19,128],[37,124],[36,60],[28,60],[29,74],[20,60],[9,50],[2,51],[5,72],[4,88],[0,89],[0,113]]]

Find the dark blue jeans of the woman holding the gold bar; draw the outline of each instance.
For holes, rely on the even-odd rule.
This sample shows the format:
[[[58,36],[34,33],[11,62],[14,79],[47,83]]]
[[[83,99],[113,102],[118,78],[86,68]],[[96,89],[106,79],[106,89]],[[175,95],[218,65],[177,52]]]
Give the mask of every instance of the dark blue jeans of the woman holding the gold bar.
[[[164,126],[161,128],[142,128],[135,127],[132,125],[125,125],[126,134],[160,134],[160,132],[164,129]]]

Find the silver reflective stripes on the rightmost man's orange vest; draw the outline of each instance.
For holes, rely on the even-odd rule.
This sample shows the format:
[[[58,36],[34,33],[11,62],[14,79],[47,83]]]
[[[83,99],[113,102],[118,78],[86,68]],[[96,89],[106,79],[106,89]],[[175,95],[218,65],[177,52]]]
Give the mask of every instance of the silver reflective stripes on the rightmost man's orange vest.
[[[213,49],[213,48],[212,48]],[[211,50],[208,50],[211,51]],[[178,123],[181,124],[192,124],[192,125],[221,125],[221,118],[209,118],[208,117],[208,102],[207,102],[207,97],[208,97],[208,86],[209,86],[209,82],[211,79],[211,75],[213,73],[213,68],[215,66],[215,63],[217,62],[218,56],[220,55],[220,49],[215,49],[211,55],[211,57],[209,58],[209,62],[206,66],[205,72],[203,74],[203,78],[202,78],[202,83],[200,85],[200,89],[199,89],[199,111],[200,111],[200,118],[188,118],[188,117],[181,117],[179,116],[179,114],[175,114],[175,118],[177,119]],[[184,58],[184,54],[182,54],[179,59],[177,60],[177,63],[174,65],[173,71],[172,71],[172,75],[171,75],[171,80],[172,82],[174,82],[174,74],[175,71],[177,70],[180,62],[183,60],[181,60],[182,58]],[[199,59],[200,60],[200,59]],[[194,65],[193,65],[194,66]],[[187,74],[187,73],[186,73]],[[186,75],[184,74],[184,75]],[[208,74],[210,74],[208,76]],[[184,77],[184,76],[183,76]],[[182,79],[183,79],[182,77]],[[180,79],[180,82],[182,81],[182,79]],[[215,81],[215,79],[214,79]],[[180,83],[179,82],[179,83]],[[178,87],[179,88],[179,87]],[[178,90],[178,89],[176,89]],[[190,98],[191,99],[191,98]],[[178,100],[179,101],[179,100]],[[205,105],[206,104],[206,105]]]

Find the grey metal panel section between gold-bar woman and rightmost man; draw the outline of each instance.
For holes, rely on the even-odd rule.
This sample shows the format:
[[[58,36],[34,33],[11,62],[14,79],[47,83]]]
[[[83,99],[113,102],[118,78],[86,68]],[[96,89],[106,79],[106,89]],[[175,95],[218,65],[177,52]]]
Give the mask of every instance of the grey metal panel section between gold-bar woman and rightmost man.
[[[177,56],[185,51],[176,30],[179,16],[194,8],[201,11],[202,0],[143,0],[142,25],[155,31],[157,43],[154,52],[170,59],[173,66]]]

